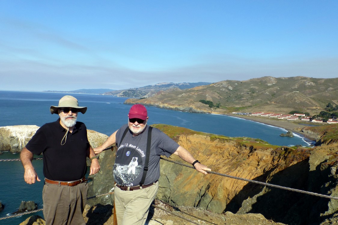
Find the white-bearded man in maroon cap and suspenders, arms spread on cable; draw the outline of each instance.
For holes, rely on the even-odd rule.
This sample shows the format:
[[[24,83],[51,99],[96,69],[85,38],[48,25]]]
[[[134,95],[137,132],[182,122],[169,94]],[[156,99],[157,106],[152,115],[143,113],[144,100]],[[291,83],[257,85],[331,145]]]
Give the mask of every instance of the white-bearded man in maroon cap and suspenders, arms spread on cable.
[[[113,171],[117,184],[114,202],[118,225],[143,225],[146,222],[159,187],[160,156],[175,154],[203,174],[211,171],[162,131],[148,126],[148,118],[143,105],[133,105],[128,124],[94,149],[98,154],[116,143]]]

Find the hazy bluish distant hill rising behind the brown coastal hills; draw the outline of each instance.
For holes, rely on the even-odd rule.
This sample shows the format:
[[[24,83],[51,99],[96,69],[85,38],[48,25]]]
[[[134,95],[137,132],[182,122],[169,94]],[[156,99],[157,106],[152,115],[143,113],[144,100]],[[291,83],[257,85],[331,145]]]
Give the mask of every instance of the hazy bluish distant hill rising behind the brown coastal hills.
[[[114,95],[118,97],[150,97],[159,91],[164,91],[173,88],[179,88],[185,90],[194,88],[201,85],[211,84],[209,82],[197,82],[197,83],[158,83],[155,85],[147,85],[139,88],[130,88],[124,90],[115,90],[104,93],[104,95]]]

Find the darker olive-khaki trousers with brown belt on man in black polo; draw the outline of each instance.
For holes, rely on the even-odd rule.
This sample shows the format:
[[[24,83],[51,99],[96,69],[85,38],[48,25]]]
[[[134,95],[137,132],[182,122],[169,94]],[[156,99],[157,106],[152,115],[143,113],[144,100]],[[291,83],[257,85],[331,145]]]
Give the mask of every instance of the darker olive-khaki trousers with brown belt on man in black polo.
[[[73,187],[45,183],[42,200],[46,225],[85,225],[82,213],[87,193],[87,182]]]

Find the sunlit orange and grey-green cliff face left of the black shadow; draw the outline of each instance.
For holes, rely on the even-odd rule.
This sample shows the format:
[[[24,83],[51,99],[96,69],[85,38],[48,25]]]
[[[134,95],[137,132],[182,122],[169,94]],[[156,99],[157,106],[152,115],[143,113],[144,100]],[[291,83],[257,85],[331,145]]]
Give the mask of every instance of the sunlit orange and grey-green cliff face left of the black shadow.
[[[234,140],[212,139],[204,135],[181,135],[178,143],[189,149],[196,159],[208,165],[212,171],[222,174],[264,182],[264,172],[277,166],[271,148],[254,149]],[[174,155],[170,158],[183,162]],[[217,213],[228,211],[226,208],[230,207],[229,204],[235,207],[244,200],[241,191],[247,185],[246,182],[213,174],[203,176],[195,170],[168,162],[161,162],[161,166],[160,200]],[[261,188],[256,187],[258,190]]]

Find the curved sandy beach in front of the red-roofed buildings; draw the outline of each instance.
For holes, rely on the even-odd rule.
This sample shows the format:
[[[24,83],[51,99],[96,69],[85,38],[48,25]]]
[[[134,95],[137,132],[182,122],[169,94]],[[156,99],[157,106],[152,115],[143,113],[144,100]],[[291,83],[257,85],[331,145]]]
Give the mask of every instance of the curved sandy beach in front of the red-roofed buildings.
[[[271,125],[271,126],[277,126],[280,128],[284,128],[285,130],[291,130],[292,133],[297,133],[300,134],[310,140],[315,141],[316,137],[314,135],[310,135],[310,134],[306,134],[303,132],[300,132],[300,129],[306,127],[306,122],[304,121],[304,124],[299,124],[297,122],[293,122],[290,120],[280,120],[280,119],[271,119],[271,118],[267,118],[267,117],[260,117],[260,116],[248,116],[248,115],[237,115],[237,114],[226,114],[227,116],[233,116],[233,117],[239,117],[239,118],[243,118],[243,119],[248,119],[248,120],[252,120],[252,121],[256,121],[256,122],[260,122],[260,123],[264,123],[267,125]]]

